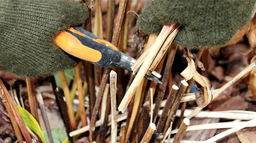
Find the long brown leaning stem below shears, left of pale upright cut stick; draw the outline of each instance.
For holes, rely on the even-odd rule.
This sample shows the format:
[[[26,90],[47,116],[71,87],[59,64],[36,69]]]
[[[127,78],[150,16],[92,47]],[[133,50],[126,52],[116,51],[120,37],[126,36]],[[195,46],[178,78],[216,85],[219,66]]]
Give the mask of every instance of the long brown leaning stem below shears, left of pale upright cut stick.
[[[106,86],[108,78],[109,78],[109,71],[110,71],[110,69],[105,69],[104,70],[104,74],[103,74],[103,77],[102,77],[101,82],[100,82],[99,93],[98,93],[98,96],[96,98],[95,106],[94,106],[94,109],[93,109],[93,114],[92,114],[91,121],[90,121],[90,130],[89,130],[90,142],[94,141],[93,134],[94,134],[94,131],[95,131],[95,123],[96,123],[96,119],[97,119],[97,113],[99,111],[99,107],[100,107],[100,103],[101,103],[102,96],[103,96],[103,93],[104,93],[104,89],[105,89],[105,86]]]

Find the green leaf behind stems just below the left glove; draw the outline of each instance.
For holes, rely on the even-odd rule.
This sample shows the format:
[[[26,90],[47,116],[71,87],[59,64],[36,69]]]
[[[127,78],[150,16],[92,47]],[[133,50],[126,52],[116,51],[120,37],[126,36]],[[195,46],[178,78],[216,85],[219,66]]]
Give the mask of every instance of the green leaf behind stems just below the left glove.
[[[70,83],[74,79],[74,76],[75,76],[75,68],[70,69],[70,70],[65,70],[65,75],[66,75],[68,86],[70,86]],[[57,87],[59,86],[60,88],[62,88],[59,73],[54,74],[54,78],[55,78]]]

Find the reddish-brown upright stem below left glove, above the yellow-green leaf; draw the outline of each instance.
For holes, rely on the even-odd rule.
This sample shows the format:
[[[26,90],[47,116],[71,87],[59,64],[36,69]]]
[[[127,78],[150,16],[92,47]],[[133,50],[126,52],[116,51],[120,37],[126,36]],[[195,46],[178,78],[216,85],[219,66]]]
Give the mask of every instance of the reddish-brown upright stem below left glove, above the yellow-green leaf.
[[[36,107],[36,97],[35,97],[35,87],[34,81],[26,78],[28,97],[29,97],[29,107],[31,115],[39,122],[37,107]]]

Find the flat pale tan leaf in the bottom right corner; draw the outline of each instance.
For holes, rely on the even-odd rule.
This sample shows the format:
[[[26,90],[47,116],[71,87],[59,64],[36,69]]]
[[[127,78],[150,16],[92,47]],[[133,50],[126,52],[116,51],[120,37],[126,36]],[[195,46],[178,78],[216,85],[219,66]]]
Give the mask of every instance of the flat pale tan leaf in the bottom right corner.
[[[241,143],[255,143],[256,142],[255,132],[251,132],[251,131],[242,129],[242,130],[236,131],[236,135],[239,138]]]

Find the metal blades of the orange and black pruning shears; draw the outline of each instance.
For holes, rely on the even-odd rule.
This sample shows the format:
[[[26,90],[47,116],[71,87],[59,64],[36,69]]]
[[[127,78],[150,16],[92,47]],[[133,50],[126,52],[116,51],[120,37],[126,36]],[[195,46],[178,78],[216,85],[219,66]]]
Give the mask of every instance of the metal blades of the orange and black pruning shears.
[[[131,66],[135,62],[136,62],[135,58],[133,58],[131,56],[128,56],[128,55],[126,55],[124,53],[121,53],[121,60],[120,60],[120,62],[112,62],[111,64],[114,65],[114,66],[120,67],[122,69],[125,69],[127,71],[133,72]],[[152,72],[152,74],[153,74],[153,72]],[[158,75],[158,77],[161,78],[161,75],[159,73],[155,72],[155,71],[154,71],[154,75]],[[162,82],[160,80],[158,80],[156,77],[154,77],[153,75],[145,74],[144,78],[162,84]]]

